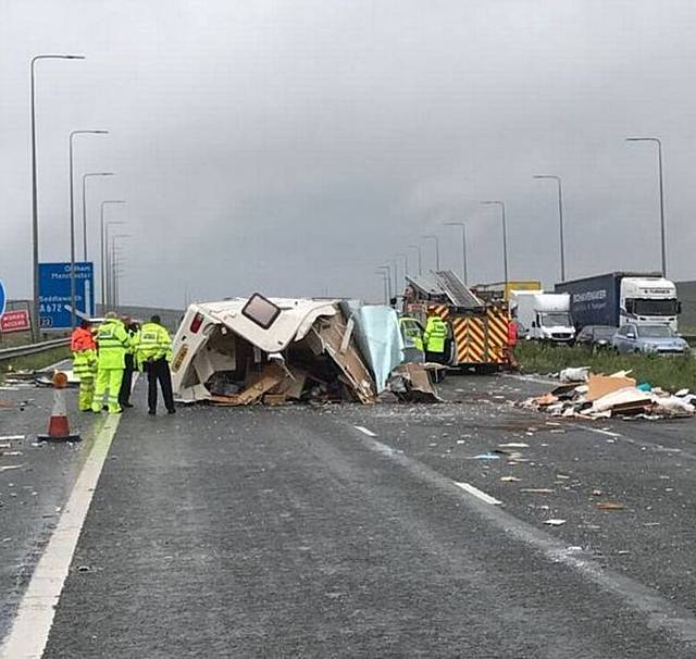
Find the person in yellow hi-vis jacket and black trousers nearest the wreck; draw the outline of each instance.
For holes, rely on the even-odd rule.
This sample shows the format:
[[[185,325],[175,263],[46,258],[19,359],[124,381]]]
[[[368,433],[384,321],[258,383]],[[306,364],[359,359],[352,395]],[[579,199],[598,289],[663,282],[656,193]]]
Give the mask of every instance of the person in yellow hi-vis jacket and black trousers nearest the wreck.
[[[174,414],[174,394],[172,393],[172,339],[162,326],[159,315],[140,327],[136,346],[138,368],[145,368],[148,374],[148,414],[157,414],[157,386],[160,383],[164,407]]]

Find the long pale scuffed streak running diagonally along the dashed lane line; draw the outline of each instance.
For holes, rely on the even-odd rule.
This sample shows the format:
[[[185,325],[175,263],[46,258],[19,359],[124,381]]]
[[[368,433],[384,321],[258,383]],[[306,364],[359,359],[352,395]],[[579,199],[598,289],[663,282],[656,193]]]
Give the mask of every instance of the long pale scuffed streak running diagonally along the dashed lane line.
[[[669,632],[686,643],[696,642],[696,618],[694,614],[664,599],[657,590],[625,574],[605,568],[600,562],[576,551],[575,548],[571,550],[561,539],[536,529],[497,506],[483,503],[477,497],[462,498],[462,490],[455,481],[418,460],[408,458],[402,451],[397,451],[376,439],[363,438],[362,443],[370,450],[388,456],[409,473],[436,487],[445,495],[457,494],[471,510],[517,542],[532,547],[547,560],[563,564],[600,589],[618,597],[627,608],[645,616],[649,629]]]

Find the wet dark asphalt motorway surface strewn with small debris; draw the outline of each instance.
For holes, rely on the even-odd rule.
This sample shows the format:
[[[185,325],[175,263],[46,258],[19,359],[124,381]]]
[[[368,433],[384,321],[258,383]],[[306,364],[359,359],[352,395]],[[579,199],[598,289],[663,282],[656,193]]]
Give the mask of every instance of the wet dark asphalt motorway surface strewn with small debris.
[[[696,421],[557,421],[512,405],[547,385],[495,376],[450,377],[435,406],[150,418],[144,385],[45,657],[696,657]],[[0,634],[103,432],[33,477],[45,507],[0,543]]]

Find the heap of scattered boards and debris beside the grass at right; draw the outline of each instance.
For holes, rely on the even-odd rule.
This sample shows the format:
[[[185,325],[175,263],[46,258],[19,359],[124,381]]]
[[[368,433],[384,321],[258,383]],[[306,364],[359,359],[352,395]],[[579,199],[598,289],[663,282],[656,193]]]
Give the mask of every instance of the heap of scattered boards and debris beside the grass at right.
[[[577,380],[573,382],[569,375]],[[561,373],[560,386],[543,396],[529,398],[520,406],[552,416],[583,419],[626,416],[657,421],[693,416],[696,412],[696,395],[687,389],[670,394],[648,383],[637,384],[629,375],[630,371],[596,375],[588,369],[567,369]]]

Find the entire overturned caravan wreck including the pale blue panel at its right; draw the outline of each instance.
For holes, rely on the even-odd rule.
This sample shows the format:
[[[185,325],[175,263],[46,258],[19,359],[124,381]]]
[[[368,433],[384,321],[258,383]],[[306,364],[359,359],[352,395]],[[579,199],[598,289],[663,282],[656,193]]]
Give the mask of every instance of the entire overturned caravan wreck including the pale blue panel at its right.
[[[403,364],[396,311],[355,300],[234,298],[191,304],[174,337],[184,402],[436,401],[428,364]]]

